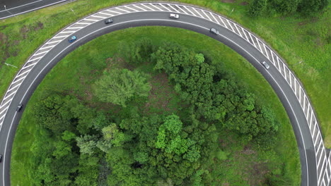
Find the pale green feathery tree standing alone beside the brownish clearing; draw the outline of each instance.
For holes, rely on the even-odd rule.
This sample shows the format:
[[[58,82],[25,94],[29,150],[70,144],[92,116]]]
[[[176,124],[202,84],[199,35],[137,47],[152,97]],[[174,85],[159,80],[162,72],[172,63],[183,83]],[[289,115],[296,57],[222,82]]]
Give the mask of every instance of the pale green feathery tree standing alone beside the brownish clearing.
[[[95,82],[95,95],[105,102],[126,106],[134,96],[147,97],[151,86],[139,71],[114,68]]]

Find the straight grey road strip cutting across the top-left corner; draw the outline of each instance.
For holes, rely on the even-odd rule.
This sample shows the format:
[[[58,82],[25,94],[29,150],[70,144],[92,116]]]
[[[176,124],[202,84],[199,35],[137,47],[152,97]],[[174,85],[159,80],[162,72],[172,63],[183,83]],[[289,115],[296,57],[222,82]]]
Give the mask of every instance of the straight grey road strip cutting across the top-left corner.
[[[1,0],[0,20],[69,0]],[[6,7],[5,7],[6,6]]]

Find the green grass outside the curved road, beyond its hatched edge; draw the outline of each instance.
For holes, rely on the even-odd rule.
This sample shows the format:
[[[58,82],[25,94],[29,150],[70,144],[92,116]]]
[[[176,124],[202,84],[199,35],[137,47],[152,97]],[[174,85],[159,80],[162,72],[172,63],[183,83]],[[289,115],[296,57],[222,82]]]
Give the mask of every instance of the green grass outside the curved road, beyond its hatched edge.
[[[69,23],[100,8],[132,1],[75,1],[64,6],[52,6],[2,20],[0,23],[0,97],[3,97],[18,70],[5,66],[4,62],[22,66],[38,46]],[[330,6],[314,18],[301,18],[297,15],[249,18],[245,14],[247,6],[243,0],[238,0],[236,3],[223,3],[216,0],[180,0],[180,2],[204,6],[228,16],[255,32],[276,49],[303,82],[318,113],[325,145],[331,147]]]

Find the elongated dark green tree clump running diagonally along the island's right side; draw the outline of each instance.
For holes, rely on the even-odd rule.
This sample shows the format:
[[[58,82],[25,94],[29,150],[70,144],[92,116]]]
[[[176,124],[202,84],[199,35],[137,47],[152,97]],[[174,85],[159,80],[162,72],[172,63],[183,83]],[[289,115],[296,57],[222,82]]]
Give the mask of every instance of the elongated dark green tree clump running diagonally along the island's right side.
[[[272,111],[256,104],[254,94],[226,78],[223,68],[206,61],[203,54],[167,44],[151,58],[156,61],[155,70],[164,70],[169,75],[176,92],[190,105],[190,115],[194,118],[219,123],[250,140],[272,139],[277,132],[279,123]]]

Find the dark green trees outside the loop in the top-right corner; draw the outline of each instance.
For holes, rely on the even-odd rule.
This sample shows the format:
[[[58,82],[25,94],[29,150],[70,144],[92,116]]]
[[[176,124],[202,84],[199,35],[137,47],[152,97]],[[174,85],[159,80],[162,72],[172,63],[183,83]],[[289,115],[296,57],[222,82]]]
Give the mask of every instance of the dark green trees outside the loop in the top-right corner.
[[[313,15],[327,7],[327,0],[252,0],[248,14],[260,16],[266,12],[281,14],[301,13],[305,16]]]

